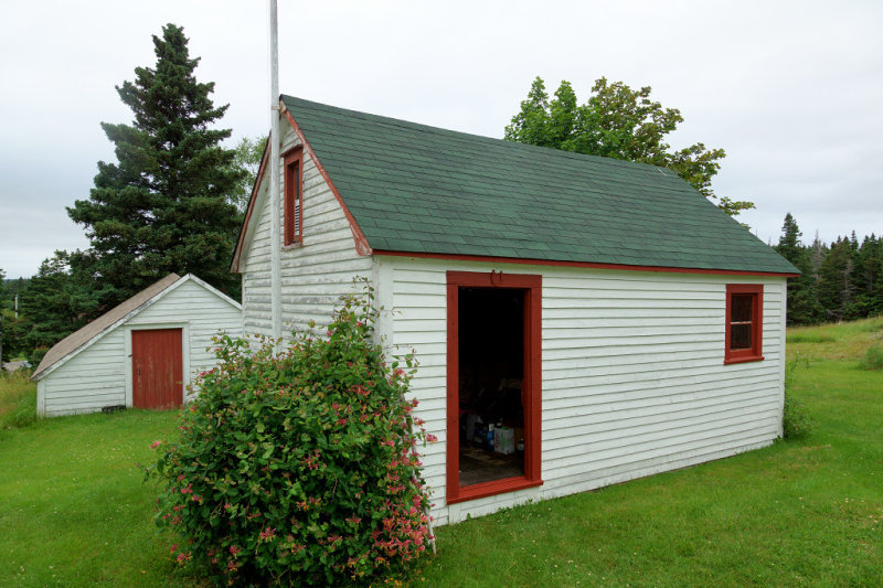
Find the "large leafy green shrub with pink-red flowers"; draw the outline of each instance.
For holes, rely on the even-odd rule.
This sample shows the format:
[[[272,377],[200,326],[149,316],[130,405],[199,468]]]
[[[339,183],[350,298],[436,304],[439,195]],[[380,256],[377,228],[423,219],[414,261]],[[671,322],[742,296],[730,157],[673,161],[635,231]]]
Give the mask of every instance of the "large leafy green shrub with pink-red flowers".
[[[219,341],[223,362],[148,468],[178,562],[219,584],[366,585],[425,552],[427,435],[404,397],[416,364],[384,362],[375,317],[369,291],[344,299],[326,336],[299,334],[280,353],[265,339]]]

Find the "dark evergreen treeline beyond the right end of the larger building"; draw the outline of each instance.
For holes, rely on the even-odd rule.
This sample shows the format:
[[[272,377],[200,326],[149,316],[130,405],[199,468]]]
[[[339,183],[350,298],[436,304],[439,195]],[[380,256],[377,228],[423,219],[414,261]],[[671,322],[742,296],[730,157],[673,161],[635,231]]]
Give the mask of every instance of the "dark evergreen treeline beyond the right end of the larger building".
[[[800,228],[785,215],[774,248],[797,266],[801,276],[788,278],[788,324],[863,319],[883,313],[883,236],[861,243],[853,231],[827,245],[818,235],[800,242]]]

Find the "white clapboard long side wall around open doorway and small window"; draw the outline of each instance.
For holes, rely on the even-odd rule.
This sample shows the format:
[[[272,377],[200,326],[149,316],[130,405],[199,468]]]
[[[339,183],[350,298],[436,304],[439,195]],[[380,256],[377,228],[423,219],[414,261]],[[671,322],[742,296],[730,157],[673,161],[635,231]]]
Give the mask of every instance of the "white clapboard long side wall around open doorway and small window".
[[[394,345],[421,362],[413,394],[439,442],[425,474],[439,523],[630,480],[772,442],[783,399],[785,279],[384,257]],[[542,478],[445,504],[446,270],[543,275]],[[764,284],[763,362],[724,365],[727,284]]]

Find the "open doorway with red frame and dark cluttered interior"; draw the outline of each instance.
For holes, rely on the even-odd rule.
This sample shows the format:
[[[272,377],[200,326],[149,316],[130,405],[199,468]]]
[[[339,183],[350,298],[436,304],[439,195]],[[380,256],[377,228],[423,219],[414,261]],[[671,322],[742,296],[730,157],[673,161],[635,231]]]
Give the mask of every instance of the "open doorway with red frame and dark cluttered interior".
[[[447,272],[447,502],[542,484],[542,276]]]

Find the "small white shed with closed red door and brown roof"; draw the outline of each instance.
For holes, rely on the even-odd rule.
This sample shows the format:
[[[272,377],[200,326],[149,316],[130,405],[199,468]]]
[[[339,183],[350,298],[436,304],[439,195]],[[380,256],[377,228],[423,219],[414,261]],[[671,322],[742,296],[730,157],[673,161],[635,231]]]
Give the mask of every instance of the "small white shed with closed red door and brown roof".
[[[170,274],[46,352],[32,376],[38,414],[180,406],[193,375],[217,363],[219,333],[242,334],[242,306]]]

